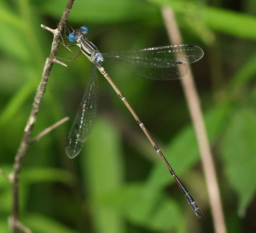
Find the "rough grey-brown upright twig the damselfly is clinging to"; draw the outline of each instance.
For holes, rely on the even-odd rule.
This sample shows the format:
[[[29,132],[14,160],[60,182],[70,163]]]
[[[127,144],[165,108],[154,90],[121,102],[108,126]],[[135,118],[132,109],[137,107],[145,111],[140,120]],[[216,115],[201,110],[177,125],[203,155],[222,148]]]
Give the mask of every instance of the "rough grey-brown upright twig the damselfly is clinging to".
[[[31,143],[31,133],[32,133],[32,129],[33,126],[36,122],[36,118],[37,118],[37,113],[39,111],[39,107],[41,105],[41,101],[42,98],[44,96],[44,92],[46,89],[46,84],[48,82],[50,73],[51,73],[51,69],[52,69],[52,65],[54,62],[56,62],[56,53],[57,53],[57,48],[58,48],[58,44],[60,41],[60,32],[62,30],[62,28],[64,27],[66,20],[68,18],[68,15],[71,11],[72,5],[74,3],[75,0],[68,0],[68,3],[66,5],[66,8],[63,12],[62,18],[60,19],[60,23],[58,25],[58,28],[53,30],[50,29],[46,26],[43,26],[43,28],[51,31],[53,33],[53,40],[52,40],[52,48],[51,48],[51,53],[49,58],[46,59],[46,62],[44,64],[44,71],[42,74],[42,79],[41,82],[37,88],[36,91],[36,96],[34,98],[34,102],[32,105],[32,110],[31,113],[28,117],[28,121],[27,121],[27,125],[25,127],[24,130],[24,134],[20,143],[20,147],[17,151],[17,154],[15,155],[14,158],[14,164],[13,164],[13,186],[12,186],[12,193],[13,193],[13,209],[12,209],[12,216],[13,216],[13,222],[16,223],[18,221],[18,214],[19,214],[19,186],[18,186],[18,182],[19,182],[19,173],[20,173],[20,166],[21,166],[21,162],[23,157],[26,154],[26,151]],[[13,233],[17,232],[17,228],[16,228],[16,224],[13,225]]]

